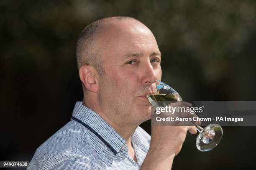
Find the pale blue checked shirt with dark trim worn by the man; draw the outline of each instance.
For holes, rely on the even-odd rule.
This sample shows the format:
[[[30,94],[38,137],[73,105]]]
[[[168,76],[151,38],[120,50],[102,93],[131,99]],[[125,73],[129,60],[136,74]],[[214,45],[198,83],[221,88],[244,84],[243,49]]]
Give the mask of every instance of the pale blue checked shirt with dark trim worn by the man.
[[[138,170],[150,135],[138,127],[131,140],[138,164],[128,155],[126,141],[97,113],[77,102],[71,121],[36,150],[27,170]]]

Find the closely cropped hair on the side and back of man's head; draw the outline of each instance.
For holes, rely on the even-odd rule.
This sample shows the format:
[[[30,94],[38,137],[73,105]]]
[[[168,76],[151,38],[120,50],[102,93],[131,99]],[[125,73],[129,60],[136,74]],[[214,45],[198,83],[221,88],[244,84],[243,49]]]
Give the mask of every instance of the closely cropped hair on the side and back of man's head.
[[[135,18],[118,16],[96,20],[84,28],[77,40],[76,56],[78,69],[83,65],[91,65],[95,67],[99,75],[104,75],[102,56],[100,54],[102,47],[97,44],[97,40],[102,37],[102,34],[104,34],[106,30],[111,28],[113,23],[124,20],[133,20],[141,23]]]

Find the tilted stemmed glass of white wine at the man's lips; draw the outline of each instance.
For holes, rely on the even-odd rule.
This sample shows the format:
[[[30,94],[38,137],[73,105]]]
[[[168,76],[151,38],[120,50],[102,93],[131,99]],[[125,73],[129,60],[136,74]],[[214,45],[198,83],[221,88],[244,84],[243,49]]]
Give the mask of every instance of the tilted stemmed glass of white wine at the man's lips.
[[[159,80],[158,83],[159,85],[157,85],[156,94],[147,95],[148,101],[152,106],[159,106],[157,104],[159,101],[182,101],[179,93],[172,87]],[[212,150],[218,145],[223,135],[223,130],[220,125],[210,124],[205,128],[202,128],[193,120],[191,122],[195,125],[197,131],[199,132],[196,139],[196,146],[198,150],[205,152]]]

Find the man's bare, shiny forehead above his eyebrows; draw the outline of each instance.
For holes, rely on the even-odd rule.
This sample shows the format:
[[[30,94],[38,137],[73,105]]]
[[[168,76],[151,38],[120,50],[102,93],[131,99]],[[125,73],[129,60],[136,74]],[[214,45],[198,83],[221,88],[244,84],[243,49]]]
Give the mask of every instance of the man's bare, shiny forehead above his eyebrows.
[[[108,59],[125,57],[127,53],[148,55],[152,52],[159,52],[152,32],[136,20],[107,24],[98,40],[103,53],[102,57],[107,56]]]

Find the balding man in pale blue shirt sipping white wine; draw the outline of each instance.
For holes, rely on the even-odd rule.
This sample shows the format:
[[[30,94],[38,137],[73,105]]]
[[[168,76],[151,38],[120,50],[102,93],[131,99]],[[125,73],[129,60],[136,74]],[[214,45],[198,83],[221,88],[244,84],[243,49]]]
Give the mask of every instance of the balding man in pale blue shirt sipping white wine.
[[[151,119],[146,95],[161,80],[161,53],[152,32],[134,18],[88,25],[77,41],[84,99],[71,121],[37,150],[28,170],[171,169],[187,130],[139,125]]]

